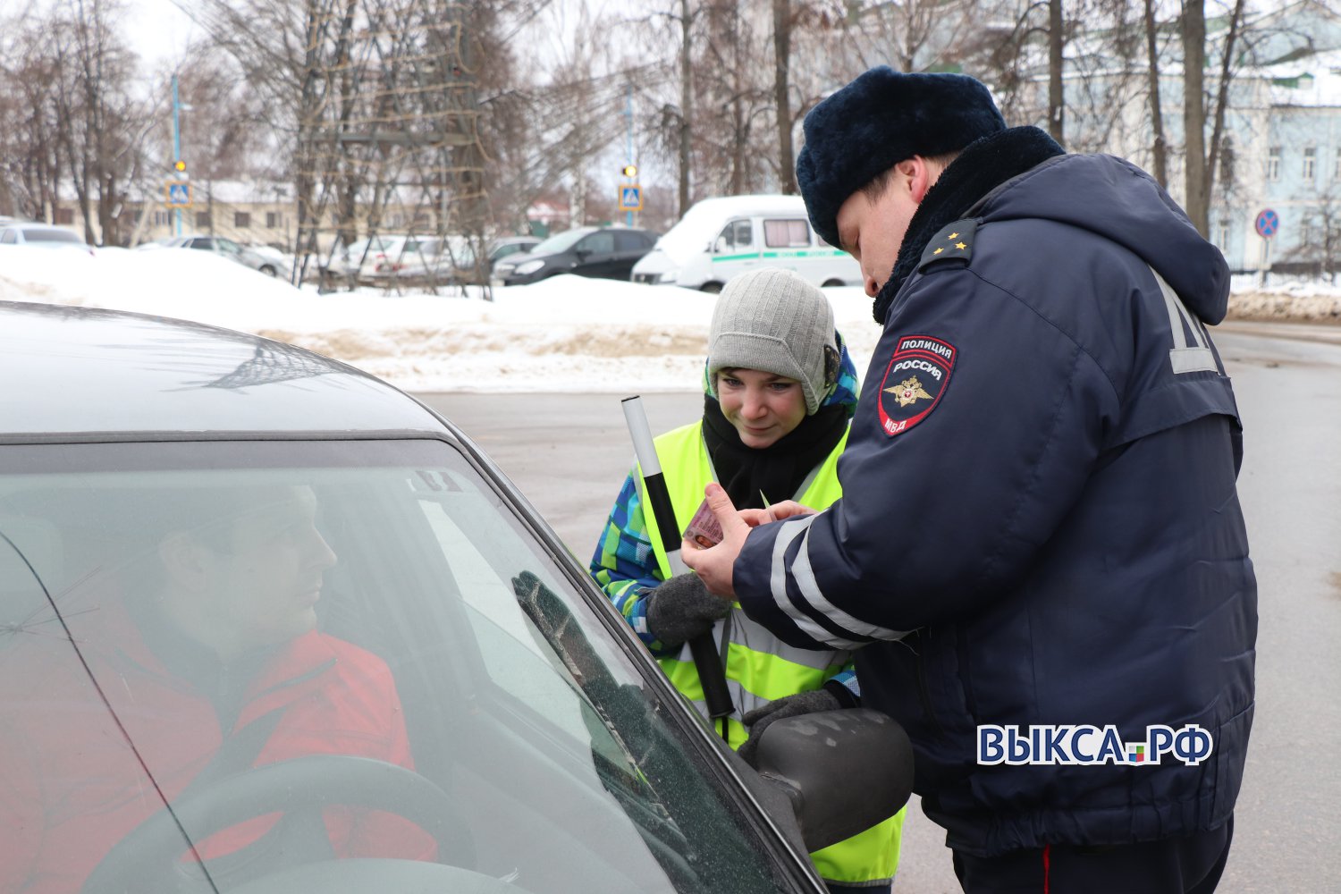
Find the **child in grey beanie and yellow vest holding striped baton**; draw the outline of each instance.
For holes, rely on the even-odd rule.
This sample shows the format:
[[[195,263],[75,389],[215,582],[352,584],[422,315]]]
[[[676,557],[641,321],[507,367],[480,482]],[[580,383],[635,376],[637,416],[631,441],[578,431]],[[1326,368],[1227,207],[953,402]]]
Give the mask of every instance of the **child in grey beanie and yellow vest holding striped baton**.
[[[797,500],[822,509],[837,500],[837,461],[857,405],[857,373],[834,330],[823,292],[783,269],[742,273],[717,298],[708,331],[704,410],[656,438],[680,533],[709,481],[738,508]],[[688,642],[712,633],[723,657],[732,713],[717,732],[747,761],[763,729],[782,717],[860,704],[845,651],[794,649],[711,595],[693,572],[673,575],[641,469],[629,473],[591,559],[591,574],[707,717]],[[889,890],[898,863],[902,811],[811,855],[830,889]]]

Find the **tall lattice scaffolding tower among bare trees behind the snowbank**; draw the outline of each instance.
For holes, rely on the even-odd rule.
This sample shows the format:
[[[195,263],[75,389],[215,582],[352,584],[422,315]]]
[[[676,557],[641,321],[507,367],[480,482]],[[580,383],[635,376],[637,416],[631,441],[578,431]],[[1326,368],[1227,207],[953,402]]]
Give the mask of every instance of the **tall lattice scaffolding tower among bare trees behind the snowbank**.
[[[295,276],[330,269],[335,252],[363,236],[408,233],[441,251],[388,277],[389,288],[473,279],[487,290],[469,21],[472,7],[488,0],[304,1]]]

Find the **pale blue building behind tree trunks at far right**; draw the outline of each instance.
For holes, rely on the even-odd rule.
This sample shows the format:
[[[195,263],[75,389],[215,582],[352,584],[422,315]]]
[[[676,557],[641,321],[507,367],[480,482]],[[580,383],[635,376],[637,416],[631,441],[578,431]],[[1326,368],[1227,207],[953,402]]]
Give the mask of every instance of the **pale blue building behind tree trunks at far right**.
[[[1207,23],[1206,90],[1211,98],[1220,86],[1216,54],[1227,25],[1223,19]],[[1181,202],[1183,70],[1176,28],[1176,21],[1164,28],[1160,92],[1169,146],[1168,190]],[[1341,267],[1341,16],[1316,0],[1298,0],[1250,16],[1236,46],[1208,236],[1235,271],[1330,273]],[[1067,106],[1102,114],[1093,119],[1070,115],[1066,142],[1084,151],[1112,151],[1153,170],[1149,94],[1137,68],[1144,59],[1118,64],[1105,58],[1096,64],[1110,47],[1112,40],[1092,38],[1071,48],[1089,55],[1066,78]],[[1096,70],[1104,74],[1078,74]],[[1046,92],[1046,75],[1033,84]],[[1100,126],[1105,133],[1096,134]],[[1210,133],[1208,121],[1207,139]],[[1258,233],[1263,212],[1278,221],[1270,237]]]

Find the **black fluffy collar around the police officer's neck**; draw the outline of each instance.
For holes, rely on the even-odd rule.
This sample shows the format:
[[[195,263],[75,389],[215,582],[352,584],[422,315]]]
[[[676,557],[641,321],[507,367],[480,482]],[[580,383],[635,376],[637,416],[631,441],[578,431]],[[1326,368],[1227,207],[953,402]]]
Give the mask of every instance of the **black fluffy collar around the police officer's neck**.
[[[917,269],[927,243],[941,227],[967,217],[990,192],[1065,150],[1038,127],[1010,127],[968,143],[927,190],[898,248],[894,272],[876,295],[874,318],[881,326],[902,288]]]

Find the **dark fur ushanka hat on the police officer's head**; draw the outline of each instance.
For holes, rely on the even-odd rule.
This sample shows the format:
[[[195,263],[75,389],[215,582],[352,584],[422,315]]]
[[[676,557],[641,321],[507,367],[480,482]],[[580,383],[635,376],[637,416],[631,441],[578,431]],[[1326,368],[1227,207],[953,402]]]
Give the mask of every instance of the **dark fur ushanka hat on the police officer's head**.
[[[880,66],[826,97],[803,127],[797,185],[815,232],[838,245],[838,209],[849,196],[905,158],[959,151],[1004,130],[1006,119],[968,75]]]

